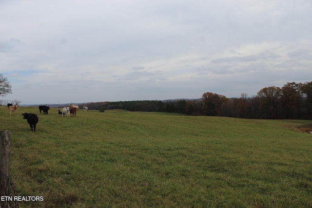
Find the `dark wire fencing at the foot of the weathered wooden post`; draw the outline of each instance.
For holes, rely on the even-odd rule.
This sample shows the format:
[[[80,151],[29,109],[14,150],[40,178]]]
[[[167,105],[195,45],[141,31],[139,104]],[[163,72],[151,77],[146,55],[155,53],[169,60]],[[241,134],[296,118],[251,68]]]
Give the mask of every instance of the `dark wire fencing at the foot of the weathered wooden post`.
[[[18,192],[11,179],[0,170],[0,208],[19,208]]]

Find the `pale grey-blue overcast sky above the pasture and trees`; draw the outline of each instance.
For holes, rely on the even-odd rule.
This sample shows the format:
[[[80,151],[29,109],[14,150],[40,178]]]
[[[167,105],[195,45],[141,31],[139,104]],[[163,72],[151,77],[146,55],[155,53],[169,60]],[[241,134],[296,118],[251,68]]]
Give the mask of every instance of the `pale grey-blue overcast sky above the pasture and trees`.
[[[0,0],[21,104],[249,96],[312,81],[312,0]]]

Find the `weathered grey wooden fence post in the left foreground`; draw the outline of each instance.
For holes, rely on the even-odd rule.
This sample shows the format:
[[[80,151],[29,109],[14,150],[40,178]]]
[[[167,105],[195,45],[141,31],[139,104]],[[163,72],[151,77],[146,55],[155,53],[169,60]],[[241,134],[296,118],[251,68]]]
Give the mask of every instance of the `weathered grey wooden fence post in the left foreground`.
[[[11,131],[0,131],[0,170],[10,172]]]

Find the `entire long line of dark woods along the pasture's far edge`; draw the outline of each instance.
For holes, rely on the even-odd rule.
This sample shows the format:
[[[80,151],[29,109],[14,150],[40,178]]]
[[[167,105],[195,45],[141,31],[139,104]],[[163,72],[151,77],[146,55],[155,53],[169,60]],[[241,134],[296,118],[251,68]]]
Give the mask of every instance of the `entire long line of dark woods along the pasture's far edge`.
[[[142,112],[184,113],[188,115],[227,116],[256,119],[312,119],[312,82],[288,82],[282,88],[265,87],[257,95],[227,98],[204,93],[201,99],[175,101],[119,101],[86,104],[101,112],[111,109]],[[97,107],[96,107],[97,106]],[[91,107],[91,108],[90,108]]]

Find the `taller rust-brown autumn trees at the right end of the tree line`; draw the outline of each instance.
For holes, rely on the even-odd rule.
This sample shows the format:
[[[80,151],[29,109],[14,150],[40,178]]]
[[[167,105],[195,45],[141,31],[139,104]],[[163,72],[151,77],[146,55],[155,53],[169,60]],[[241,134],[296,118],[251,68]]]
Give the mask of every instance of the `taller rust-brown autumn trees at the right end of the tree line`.
[[[312,119],[312,82],[288,82],[282,88],[265,87],[257,95],[239,98],[204,93],[204,115],[256,119]]]

